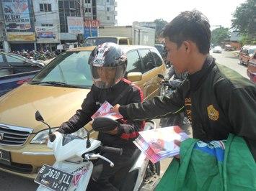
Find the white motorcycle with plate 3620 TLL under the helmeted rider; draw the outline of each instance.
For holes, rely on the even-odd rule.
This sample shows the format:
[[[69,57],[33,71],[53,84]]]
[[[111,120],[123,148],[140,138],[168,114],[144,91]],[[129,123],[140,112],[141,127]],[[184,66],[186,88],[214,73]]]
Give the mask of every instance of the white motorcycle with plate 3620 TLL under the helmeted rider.
[[[39,111],[35,113],[37,121],[44,124],[45,121]],[[99,118],[98,123],[106,118]],[[97,118],[95,119],[97,120]],[[117,121],[109,120],[104,122],[106,126],[115,125]],[[48,147],[53,149],[56,162],[53,166],[44,164],[37,173],[35,182],[40,186],[39,191],[46,190],[86,190],[89,183],[93,162],[95,159],[103,159],[113,164],[109,159],[100,155],[100,152],[110,152],[112,154],[122,154],[123,150],[113,147],[102,146],[101,141],[89,139],[89,131],[87,139],[71,134],[53,134],[49,127]],[[100,127],[95,125],[94,129]],[[146,122],[145,129],[154,129],[156,124],[153,121]],[[138,149],[131,157],[131,167],[128,169],[120,169],[120,172],[112,177],[112,184],[119,190],[154,190],[159,182],[160,163],[151,163]]]

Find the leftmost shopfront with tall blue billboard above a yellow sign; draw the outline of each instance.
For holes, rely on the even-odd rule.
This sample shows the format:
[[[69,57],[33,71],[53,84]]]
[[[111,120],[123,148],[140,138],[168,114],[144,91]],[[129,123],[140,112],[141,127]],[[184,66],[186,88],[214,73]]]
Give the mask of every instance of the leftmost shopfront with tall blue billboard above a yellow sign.
[[[32,0],[1,0],[1,11],[9,50],[34,50],[36,39]]]

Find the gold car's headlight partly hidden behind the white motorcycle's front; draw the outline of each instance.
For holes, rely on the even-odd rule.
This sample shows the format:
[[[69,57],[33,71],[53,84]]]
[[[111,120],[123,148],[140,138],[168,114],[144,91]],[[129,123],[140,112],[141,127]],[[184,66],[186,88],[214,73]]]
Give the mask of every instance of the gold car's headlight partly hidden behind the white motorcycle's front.
[[[52,131],[56,131],[58,128],[51,129]],[[87,131],[84,128],[79,129],[74,132],[72,135],[79,136],[81,138],[85,138],[87,136]],[[47,144],[49,139],[49,129],[45,129],[40,131],[36,136],[30,141],[31,144]]]

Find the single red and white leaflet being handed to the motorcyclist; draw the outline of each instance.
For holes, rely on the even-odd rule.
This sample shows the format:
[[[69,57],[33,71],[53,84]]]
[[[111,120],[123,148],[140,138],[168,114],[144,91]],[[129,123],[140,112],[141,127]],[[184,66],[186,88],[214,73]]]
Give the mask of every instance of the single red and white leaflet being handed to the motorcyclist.
[[[110,103],[105,101],[102,104],[102,106],[100,106],[100,108],[93,114],[92,119],[96,117],[107,117],[112,118],[113,120],[123,118],[123,116],[120,113],[110,112],[111,108],[113,108],[113,106],[111,106]]]

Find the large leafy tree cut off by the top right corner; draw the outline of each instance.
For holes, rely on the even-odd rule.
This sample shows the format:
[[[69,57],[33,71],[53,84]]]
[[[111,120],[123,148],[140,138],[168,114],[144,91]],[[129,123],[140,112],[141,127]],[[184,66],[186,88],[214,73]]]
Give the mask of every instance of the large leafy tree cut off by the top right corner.
[[[256,1],[247,0],[245,3],[237,6],[232,14],[232,28],[239,31],[240,34],[250,38],[256,38]]]

